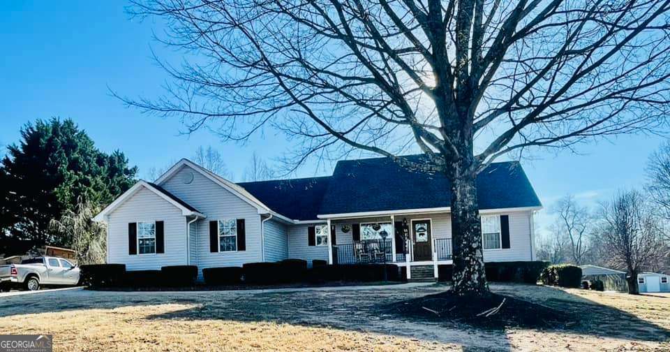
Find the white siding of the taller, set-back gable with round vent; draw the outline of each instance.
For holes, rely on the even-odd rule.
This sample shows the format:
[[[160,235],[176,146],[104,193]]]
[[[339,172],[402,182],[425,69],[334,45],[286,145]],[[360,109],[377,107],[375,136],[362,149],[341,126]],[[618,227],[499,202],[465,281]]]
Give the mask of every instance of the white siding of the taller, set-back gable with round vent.
[[[189,184],[184,183],[184,179],[190,178],[186,173],[193,173],[193,181]],[[255,207],[188,166],[174,173],[161,186],[207,216],[207,219],[197,221],[198,235],[195,238],[198,263],[194,264],[198,265],[200,277],[206,267],[241,266],[261,261],[260,215]],[[246,250],[209,251],[209,221],[219,219],[244,219]]]

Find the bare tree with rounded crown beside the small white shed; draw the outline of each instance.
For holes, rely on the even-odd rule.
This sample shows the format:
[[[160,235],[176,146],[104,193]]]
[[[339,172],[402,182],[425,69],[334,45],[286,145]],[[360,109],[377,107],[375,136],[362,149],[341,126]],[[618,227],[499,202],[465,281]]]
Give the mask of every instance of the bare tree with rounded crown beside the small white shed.
[[[628,272],[628,293],[638,294],[637,275],[667,256],[662,229],[648,199],[639,191],[620,191],[602,205],[599,235],[609,265]]]

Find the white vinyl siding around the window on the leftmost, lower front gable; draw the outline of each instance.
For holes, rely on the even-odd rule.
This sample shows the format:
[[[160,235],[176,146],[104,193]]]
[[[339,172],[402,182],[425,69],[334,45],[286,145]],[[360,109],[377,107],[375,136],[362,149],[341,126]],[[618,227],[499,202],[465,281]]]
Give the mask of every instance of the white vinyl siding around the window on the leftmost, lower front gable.
[[[164,222],[165,253],[128,254],[128,223],[142,221]],[[185,218],[181,210],[149,189],[140,189],[110,213],[109,231],[109,263],[126,264],[127,270],[159,270],[165,265],[186,264]]]

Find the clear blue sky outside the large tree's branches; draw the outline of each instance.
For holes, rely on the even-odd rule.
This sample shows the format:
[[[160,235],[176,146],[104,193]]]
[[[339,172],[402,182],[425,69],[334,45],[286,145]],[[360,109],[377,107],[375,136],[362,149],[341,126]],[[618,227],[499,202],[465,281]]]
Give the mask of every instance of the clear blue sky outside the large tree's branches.
[[[180,135],[175,119],[126,109],[107,86],[128,96],[158,96],[165,73],[151,61],[150,47],[179,59],[152,41],[158,24],[132,20],[120,1],[10,1],[0,11],[0,145],[17,142],[22,125],[35,119],[70,117],[104,151],[121,149],[144,177],[151,167],[190,157],[199,145],[225,154],[239,179],[253,152],[266,159],[290,147],[270,129],[246,145],[224,144],[200,131]],[[595,205],[618,188],[641,187],[648,155],[662,138],[627,135],[578,147],[580,154],[535,152],[523,167],[545,208],[572,193]],[[325,175],[305,166],[299,176]],[[539,216],[539,230],[550,217]]]

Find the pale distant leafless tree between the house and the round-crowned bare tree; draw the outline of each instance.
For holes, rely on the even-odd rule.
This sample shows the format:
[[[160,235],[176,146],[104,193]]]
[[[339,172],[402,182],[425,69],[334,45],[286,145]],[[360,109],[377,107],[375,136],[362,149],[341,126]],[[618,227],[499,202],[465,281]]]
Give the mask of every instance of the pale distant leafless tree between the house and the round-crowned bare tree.
[[[567,237],[567,250],[570,261],[581,265],[589,251],[588,236],[593,217],[587,207],[576,203],[573,196],[565,196],[553,206],[556,214],[556,236]]]

